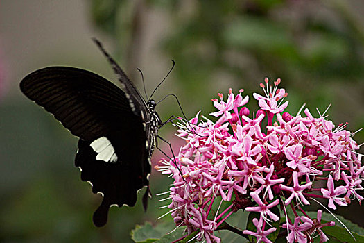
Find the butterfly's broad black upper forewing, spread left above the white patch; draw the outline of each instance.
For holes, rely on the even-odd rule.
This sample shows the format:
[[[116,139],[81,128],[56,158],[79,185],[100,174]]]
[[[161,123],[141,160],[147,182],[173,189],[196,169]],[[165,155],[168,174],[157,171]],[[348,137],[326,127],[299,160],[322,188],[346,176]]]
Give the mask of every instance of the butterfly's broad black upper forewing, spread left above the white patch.
[[[115,126],[120,126],[115,124],[115,117],[132,115],[128,99],[119,87],[83,69],[39,69],[21,81],[20,89],[84,140],[111,133]]]

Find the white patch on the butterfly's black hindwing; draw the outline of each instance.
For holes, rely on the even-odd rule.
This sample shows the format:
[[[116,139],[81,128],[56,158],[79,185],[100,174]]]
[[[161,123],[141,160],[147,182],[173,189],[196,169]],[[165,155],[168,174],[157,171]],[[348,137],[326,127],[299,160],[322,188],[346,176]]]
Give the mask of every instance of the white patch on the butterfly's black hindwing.
[[[98,153],[96,160],[105,162],[116,162],[118,160],[114,147],[106,137],[100,137],[89,145]]]

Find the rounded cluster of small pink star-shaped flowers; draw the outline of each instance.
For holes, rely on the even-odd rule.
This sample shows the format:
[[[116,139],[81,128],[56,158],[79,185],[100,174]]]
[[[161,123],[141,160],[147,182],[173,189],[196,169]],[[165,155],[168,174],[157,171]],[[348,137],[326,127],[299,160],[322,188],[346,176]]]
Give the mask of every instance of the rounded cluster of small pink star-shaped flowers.
[[[198,231],[197,240],[220,242],[214,231],[243,209],[260,214],[252,221],[257,231],[243,234],[271,242],[268,237],[277,230],[272,223],[280,219],[272,208],[279,208],[286,215],[281,228],[287,230],[288,242],[311,242],[314,233],[326,242],[321,228],[333,222],[321,223],[321,210],[310,218],[304,206],[327,199],[327,206],[335,210],[363,200],[357,191],[363,190],[364,166],[354,133],[345,130],[347,124],[335,127],[320,112],[318,118],[308,109],[304,117],[284,112],[287,93],[279,83],[280,79],[268,86],[266,78],[260,84],[265,96],[253,94],[260,107],[255,113],[245,107],[249,97],[241,95],[243,90],[234,95],[230,89],[227,101],[223,94],[213,100],[218,111],[210,115],[218,117],[216,122],[203,116],[198,121],[198,112],[191,121],[177,124],[177,136],[187,144],[157,169],[174,180],[168,208],[175,224],[187,226],[188,233]],[[216,201],[217,211],[211,209]],[[229,206],[220,212],[223,201]],[[288,217],[288,210],[294,218]]]

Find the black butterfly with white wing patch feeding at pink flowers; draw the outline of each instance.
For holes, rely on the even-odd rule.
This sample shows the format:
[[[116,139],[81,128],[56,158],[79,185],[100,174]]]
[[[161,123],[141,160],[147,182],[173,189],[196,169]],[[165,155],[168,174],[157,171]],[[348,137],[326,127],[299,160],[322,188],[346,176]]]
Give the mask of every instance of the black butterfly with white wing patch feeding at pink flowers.
[[[23,78],[20,89],[80,138],[75,165],[81,179],[92,184],[92,192],[103,195],[93,220],[96,226],[104,226],[110,206],[134,206],[137,191],[144,186],[146,209],[150,157],[162,122],[155,101],[145,101],[101,43],[94,42],[124,91],[97,74],[73,67],[39,69]]]

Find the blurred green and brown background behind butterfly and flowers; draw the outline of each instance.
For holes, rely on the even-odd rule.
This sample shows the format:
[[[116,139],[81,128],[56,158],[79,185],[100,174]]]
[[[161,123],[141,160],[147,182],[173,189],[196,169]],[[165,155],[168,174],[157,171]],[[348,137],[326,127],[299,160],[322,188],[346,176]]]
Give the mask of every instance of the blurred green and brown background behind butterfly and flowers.
[[[281,78],[288,110],[302,103],[313,114],[331,103],[329,118],[364,127],[364,2],[333,1],[162,1],[3,0],[0,3],[0,242],[128,242],[130,230],[155,223],[166,203],[150,201],[144,214],[112,208],[110,221],[95,228],[100,195],[80,181],[73,166],[77,140],[19,91],[35,69],[66,65],[116,81],[91,37],[97,37],[139,88],[143,70],[150,94],[176,66],[154,98],[173,92],[184,112],[213,110],[217,92],[250,94],[268,76]],[[171,98],[160,103],[162,119],[180,115]],[[173,127],[159,134],[171,142]],[[364,132],[355,136],[364,142]],[[177,143],[177,142],[176,142]],[[168,151],[162,146],[164,151]],[[363,148],[361,153],[364,153]],[[153,161],[162,157],[155,152]],[[168,179],[153,171],[155,195]],[[364,226],[363,207],[337,212]],[[171,220],[167,217],[164,220]]]

